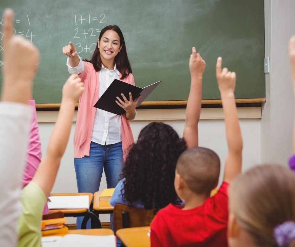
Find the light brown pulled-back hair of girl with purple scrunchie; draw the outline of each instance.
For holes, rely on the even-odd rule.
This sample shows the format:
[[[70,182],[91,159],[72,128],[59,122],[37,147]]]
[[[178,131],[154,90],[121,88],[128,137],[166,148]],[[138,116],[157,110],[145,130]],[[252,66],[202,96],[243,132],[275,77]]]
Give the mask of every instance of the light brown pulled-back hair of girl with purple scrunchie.
[[[257,166],[231,184],[229,202],[238,225],[255,244],[277,246],[276,226],[295,222],[295,174],[280,165]]]

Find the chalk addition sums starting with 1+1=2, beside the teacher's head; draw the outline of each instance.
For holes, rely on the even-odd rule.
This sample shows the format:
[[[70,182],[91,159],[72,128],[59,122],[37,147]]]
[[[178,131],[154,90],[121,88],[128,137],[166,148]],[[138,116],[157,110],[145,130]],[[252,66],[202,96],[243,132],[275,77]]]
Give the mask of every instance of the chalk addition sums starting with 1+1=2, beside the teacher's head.
[[[106,15],[104,13],[100,15],[76,14],[74,16],[74,21],[75,29],[73,32],[73,39],[79,41],[74,44],[76,46],[77,53],[79,54],[83,52],[93,54],[97,43],[90,42],[98,39],[101,29],[104,28],[105,23],[107,23]],[[93,25],[93,27],[89,28],[89,24]]]

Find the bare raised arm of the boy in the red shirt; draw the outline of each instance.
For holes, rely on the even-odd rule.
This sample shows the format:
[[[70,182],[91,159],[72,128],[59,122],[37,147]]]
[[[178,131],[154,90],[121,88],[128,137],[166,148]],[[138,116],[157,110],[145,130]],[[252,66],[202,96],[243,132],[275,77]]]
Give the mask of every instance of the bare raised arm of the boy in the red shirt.
[[[218,57],[216,63],[216,78],[221,95],[222,107],[225,117],[226,139],[228,155],[225,160],[224,181],[230,183],[241,173],[243,140],[239,125],[238,111],[234,99],[236,73],[221,70],[222,58]]]

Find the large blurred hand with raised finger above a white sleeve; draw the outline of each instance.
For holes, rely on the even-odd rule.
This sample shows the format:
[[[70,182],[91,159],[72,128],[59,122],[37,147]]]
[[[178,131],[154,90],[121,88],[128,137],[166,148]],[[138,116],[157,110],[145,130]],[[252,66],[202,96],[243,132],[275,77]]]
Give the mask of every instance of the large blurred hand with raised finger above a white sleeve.
[[[28,103],[39,62],[38,49],[27,39],[13,37],[13,10],[3,14],[3,90],[2,100]]]

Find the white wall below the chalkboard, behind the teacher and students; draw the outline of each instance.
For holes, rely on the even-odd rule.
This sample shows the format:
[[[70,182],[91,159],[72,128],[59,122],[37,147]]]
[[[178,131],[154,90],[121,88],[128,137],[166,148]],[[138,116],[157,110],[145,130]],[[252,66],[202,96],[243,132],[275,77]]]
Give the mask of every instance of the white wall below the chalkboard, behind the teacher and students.
[[[185,110],[181,110],[185,113]],[[203,110],[202,110],[203,111]],[[162,111],[165,114],[165,110]],[[202,113],[201,113],[202,116]],[[219,118],[219,117],[218,117]],[[137,139],[139,131],[150,121],[133,121],[131,123],[134,138]],[[184,120],[166,120],[180,136],[184,128]],[[243,170],[248,169],[255,164],[260,163],[260,118],[242,118],[240,125],[244,140],[243,150]],[[39,123],[40,138],[42,143],[42,152],[46,153],[47,143],[50,138],[54,123]],[[70,193],[77,192],[76,176],[73,165],[73,133],[75,123],[72,124],[72,132],[65,155],[62,158],[61,166],[56,178],[52,193]],[[211,148],[220,157],[222,161],[222,172],[225,156],[227,154],[227,144],[225,137],[225,126],[223,119],[201,119],[199,123],[199,142],[201,146]],[[100,190],[106,188],[105,176],[102,178]],[[109,221],[109,217],[104,215],[100,217],[102,221]],[[75,223],[75,219],[68,218],[70,223]]]

